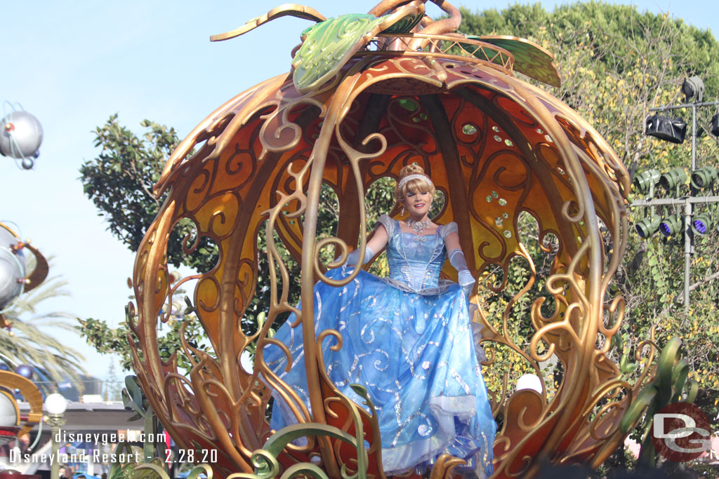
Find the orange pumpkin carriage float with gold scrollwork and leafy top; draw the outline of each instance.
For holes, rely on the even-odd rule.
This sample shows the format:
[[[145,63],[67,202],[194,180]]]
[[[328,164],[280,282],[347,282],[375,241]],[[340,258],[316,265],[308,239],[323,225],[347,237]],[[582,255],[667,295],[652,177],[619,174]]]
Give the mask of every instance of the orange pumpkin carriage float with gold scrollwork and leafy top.
[[[370,401],[355,404],[327,375],[322,343],[342,343],[336,330],[315,331],[313,287],[331,283],[326,271],[342,262],[322,264],[322,248],[334,246],[343,257],[357,245],[365,248],[368,188],[396,178],[411,162],[444,195],[434,220],[459,225],[467,263],[480,276],[472,302],[489,356],[482,370],[488,383],[500,385],[490,391],[500,419],[493,477],[532,475],[542,461],[599,465],[626,436],[620,420],[649,377],[647,369],[631,386],[608,358],[623,317],[623,300],[609,297],[608,284],[626,245],[628,173],[577,113],[514,76],[559,85],[548,52],[515,37],[459,34],[459,11],[435,3],[448,18],[427,17],[423,1],[383,1],[369,14],[335,19],[285,5],[213,38],[236,37],[283,15],[315,22],[293,51],[290,74],[227,101],[172,154],[155,190],[167,199],[134,266],[137,309],[130,304],[130,323],[142,389],[178,446],[219,450],[211,466],[221,477],[386,477]],[[336,194],[339,219],[336,237],[318,239],[323,185]],[[537,275],[521,238],[521,215],[536,220],[540,242],[554,235],[558,245],[546,275],[546,298],[554,305],[548,314],[546,298],[539,299],[522,318],[532,331],[526,344],[516,343],[511,330],[513,305]],[[218,259],[209,271],[172,282],[166,251],[180,220],[196,228],[184,241],[186,251],[209,240]],[[301,264],[301,306],[289,300],[281,251]],[[261,280],[271,300],[264,324],[247,335],[240,322],[259,288],[258,255],[270,264],[270,277]],[[526,284],[503,311],[490,313],[482,294],[507,287],[513,259],[523,261]],[[487,285],[482,272],[490,269],[504,279]],[[444,274],[457,277],[449,264]],[[168,319],[163,304],[191,280],[212,353],[185,343],[175,355],[186,355],[192,366],[181,374],[175,356],[160,359],[157,317]],[[269,345],[281,347],[270,331],[287,312],[296,314],[293,327],[303,340],[310,404],[263,360]],[[248,348],[257,351],[252,370],[240,362]],[[515,391],[509,372],[497,367],[499,350],[521,358],[541,391]],[[561,368],[556,385],[541,371],[546,363]],[[298,424],[270,428],[272,394],[291,404]],[[461,463],[439,457],[431,477],[452,477]]]

